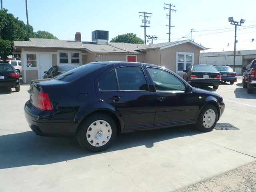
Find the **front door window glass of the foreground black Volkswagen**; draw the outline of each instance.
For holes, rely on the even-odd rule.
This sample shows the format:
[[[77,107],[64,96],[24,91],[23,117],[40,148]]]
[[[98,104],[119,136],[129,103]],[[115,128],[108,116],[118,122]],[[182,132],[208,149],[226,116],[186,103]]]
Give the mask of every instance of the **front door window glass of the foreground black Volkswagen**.
[[[162,69],[148,68],[157,91],[185,91],[185,84],[176,76]]]

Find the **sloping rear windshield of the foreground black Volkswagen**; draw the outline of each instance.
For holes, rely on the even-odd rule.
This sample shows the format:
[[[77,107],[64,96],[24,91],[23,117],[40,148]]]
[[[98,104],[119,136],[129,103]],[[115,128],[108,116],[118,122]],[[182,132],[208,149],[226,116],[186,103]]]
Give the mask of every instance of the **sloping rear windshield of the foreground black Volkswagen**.
[[[99,68],[104,67],[104,64],[98,63],[89,63],[86,65],[82,65],[80,67],[74,68],[68,72],[65,72],[61,75],[54,77],[53,79],[59,81],[73,82],[82,76],[86,76],[87,74],[98,70]]]

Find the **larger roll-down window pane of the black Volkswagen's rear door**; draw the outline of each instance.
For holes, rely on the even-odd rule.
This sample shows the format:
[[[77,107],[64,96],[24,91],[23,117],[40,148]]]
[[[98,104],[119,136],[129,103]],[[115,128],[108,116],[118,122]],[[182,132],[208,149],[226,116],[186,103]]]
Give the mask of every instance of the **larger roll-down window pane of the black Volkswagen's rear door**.
[[[121,67],[116,69],[120,90],[148,91],[141,67]]]

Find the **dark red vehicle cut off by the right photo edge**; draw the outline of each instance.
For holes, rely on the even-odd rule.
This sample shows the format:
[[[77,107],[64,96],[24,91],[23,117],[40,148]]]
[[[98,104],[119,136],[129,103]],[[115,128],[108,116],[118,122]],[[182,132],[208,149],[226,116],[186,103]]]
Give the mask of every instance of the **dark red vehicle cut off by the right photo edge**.
[[[243,87],[248,93],[253,93],[256,88],[256,59],[252,60],[248,66],[243,67]]]

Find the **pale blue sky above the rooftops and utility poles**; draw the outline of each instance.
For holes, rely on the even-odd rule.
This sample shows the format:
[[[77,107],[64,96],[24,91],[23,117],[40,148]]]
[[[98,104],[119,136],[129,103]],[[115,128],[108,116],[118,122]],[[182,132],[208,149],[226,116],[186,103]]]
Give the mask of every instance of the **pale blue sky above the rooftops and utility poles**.
[[[2,0],[3,7],[26,23],[25,0]],[[108,30],[109,38],[133,32],[144,40],[142,18],[138,12],[151,12],[148,35],[158,36],[154,43],[168,42],[168,18],[164,3],[175,5],[171,13],[171,41],[190,39],[206,48],[224,48],[234,44],[234,20],[246,19],[238,27],[239,42],[256,40],[255,0],[28,0],[29,23],[34,32],[48,31],[61,40],[74,40],[81,32],[82,40],[91,41],[94,30]],[[228,31],[228,32],[225,32]],[[185,38],[182,38],[185,37]]]

